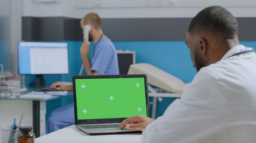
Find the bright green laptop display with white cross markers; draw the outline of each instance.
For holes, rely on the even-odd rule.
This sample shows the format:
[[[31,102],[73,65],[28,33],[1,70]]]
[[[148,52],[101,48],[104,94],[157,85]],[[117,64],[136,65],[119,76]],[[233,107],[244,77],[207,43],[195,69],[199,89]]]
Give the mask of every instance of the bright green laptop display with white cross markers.
[[[75,81],[77,120],[147,116],[143,77]]]

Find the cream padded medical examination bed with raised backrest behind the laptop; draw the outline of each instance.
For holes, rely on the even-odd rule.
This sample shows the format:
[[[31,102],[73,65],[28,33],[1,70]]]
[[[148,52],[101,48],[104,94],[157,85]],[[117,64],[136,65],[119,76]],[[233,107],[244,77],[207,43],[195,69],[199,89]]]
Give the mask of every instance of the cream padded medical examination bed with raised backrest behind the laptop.
[[[167,73],[148,63],[131,64],[128,74],[146,74],[149,89],[149,97],[153,97],[152,104],[152,119],[156,115],[157,100],[162,101],[162,97],[180,98],[182,92],[189,83],[184,83],[179,78]],[[156,86],[157,88],[152,88]]]

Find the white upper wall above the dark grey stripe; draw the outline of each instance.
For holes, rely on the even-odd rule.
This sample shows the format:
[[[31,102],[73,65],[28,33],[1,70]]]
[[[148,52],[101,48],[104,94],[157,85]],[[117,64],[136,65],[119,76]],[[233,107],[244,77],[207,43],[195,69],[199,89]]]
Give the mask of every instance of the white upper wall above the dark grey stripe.
[[[88,4],[86,2],[92,1],[100,1],[101,8],[95,8],[97,5],[95,7],[86,6],[86,4]],[[174,3],[172,6],[167,6],[167,1]],[[113,4],[106,4],[106,2],[113,2]],[[117,2],[119,3],[117,4]],[[124,4],[122,4],[122,2],[124,2]],[[153,3],[152,6],[146,7],[145,2]],[[162,7],[157,6],[157,4],[159,4],[157,2],[165,2],[165,5]],[[77,5],[80,5],[80,8],[77,8],[79,7]],[[127,7],[125,7],[125,5],[127,5]],[[134,5],[133,8],[131,5]],[[86,13],[95,12],[99,14],[101,18],[194,17],[195,14],[208,5],[223,5],[230,10],[235,17],[256,17],[255,0],[23,0],[22,15],[34,17],[64,16],[81,18]]]

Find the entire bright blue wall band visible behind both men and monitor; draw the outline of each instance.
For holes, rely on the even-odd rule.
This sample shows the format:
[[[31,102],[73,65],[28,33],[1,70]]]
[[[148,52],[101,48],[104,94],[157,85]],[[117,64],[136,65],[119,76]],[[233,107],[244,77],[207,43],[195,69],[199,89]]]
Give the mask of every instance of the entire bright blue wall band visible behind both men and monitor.
[[[79,74],[82,64],[80,56],[80,46],[82,45],[82,41],[58,42],[68,43],[69,74],[44,75],[46,85],[51,85],[56,81],[71,82],[72,76]],[[113,43],[115,44],[116,49],[135,51],[136,63],[153,64],[154,66],[173,74],[185,83],[191,82],[196,74],[185,41],[114,41]],[[242,41],[240,43],[256,49],[256,42],[254,41]],[[92,52],[93,47],[94,44],[92,43],[90,53]],[[85,75],[85,70],[83,74]],[[34,80],[34,76],[26,76],[26,86],[28,86],[32,80]],[[162,102],[158,101],[156,117],[161,116],[174,99],[175,98],[164,98]],[[72,100],[70,100],[70,102],[72,102]],[[68,102],[65,104],[68,104]],[[47,116],[49,116],[49,114],[50,113],[48,112]]]

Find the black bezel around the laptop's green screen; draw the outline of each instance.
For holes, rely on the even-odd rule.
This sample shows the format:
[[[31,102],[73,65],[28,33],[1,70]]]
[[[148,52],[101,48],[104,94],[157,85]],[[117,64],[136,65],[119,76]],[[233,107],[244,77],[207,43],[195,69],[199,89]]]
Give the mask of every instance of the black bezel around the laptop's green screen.
[[[124,75],[99,75],[99,76],[73,76],[73,97],[74,97],[74,118],[75,125],[81,124],[100,124],[100,123],[121,123],[126,118],[115,119],[85,119],[77,120],[77,100],[76,100],[76,79],[109,79],[109,78],[132,78],[143,77],[145,85],[145,98],[146,98],[146,110],[147,117],[149,117],[149,95],[147,89],[147,76],[146,74],[124,74]]]

